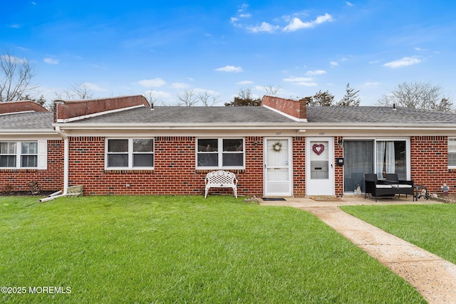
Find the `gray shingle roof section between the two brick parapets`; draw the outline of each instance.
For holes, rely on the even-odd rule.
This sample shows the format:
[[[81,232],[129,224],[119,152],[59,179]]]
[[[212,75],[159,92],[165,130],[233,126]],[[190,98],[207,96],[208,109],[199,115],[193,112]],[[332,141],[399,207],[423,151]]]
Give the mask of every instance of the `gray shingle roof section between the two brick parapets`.
[[[296,122],[290,118],[264,107],[170,107],[157,106],[150,108],[136,108],[121,112],[113,112],[85,120],[78,123],[289,123]]]

